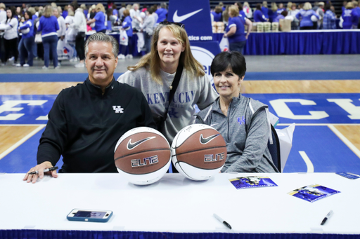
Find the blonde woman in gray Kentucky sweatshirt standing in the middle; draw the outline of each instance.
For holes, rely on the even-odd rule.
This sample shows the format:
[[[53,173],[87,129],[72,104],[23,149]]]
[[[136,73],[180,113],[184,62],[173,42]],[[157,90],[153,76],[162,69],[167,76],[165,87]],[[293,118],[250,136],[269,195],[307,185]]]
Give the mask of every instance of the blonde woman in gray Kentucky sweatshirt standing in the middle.
[[[153,34],[150,53],[127,69],[129,71],[117,81],[138,88],[147,97],[156,122],[164,123],[158,130],[170,145],[182,128],[195,122],[195,104],[205,109],[217,98],[203,65],[191,53],[188,35],[181,23],[160,22]],[[179,85],[169,102],[176,74]]]

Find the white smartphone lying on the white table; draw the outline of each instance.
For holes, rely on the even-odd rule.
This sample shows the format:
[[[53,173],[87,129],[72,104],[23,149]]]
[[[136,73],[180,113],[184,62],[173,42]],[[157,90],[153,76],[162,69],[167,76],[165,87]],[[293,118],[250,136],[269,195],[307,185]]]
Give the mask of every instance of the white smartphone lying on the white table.
[[[67,218],[69,221],[106,222],[111,216],[113,216],[113,211],[109,210],[73,209]]]

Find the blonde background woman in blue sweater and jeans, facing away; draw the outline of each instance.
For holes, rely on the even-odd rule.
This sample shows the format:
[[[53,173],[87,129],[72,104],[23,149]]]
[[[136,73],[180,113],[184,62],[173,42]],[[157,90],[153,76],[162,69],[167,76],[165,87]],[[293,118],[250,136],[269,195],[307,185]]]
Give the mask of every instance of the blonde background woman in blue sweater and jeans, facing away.
[[[53,56],[53,67],[58,69],[58,34],[57,31],[60,29],[58,19],[53,15],[53,8],[49,5],[44,9],[44,14],[39,20],[39,27],[37,31],[41,32],[42,44],[44,46],[44,67],[43,69],[49,68],[50,51]]]

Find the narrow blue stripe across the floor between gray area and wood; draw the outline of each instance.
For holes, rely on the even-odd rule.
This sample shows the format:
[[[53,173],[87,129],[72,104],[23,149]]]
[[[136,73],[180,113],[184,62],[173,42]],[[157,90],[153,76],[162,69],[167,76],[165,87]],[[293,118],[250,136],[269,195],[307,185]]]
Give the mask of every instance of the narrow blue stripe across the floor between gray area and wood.
[[[117,79],[123,73],[115,73]],[[0,82],[83,82],[87,73],[0,74]],[[360,71],[247,72],[245,81],[359,80]]]

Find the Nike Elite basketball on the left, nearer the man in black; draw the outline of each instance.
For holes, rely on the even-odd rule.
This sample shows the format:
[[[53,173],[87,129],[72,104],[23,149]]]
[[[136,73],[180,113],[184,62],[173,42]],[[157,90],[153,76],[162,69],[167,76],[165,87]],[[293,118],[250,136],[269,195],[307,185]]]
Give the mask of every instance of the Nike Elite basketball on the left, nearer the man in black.
[[[117,141],[114,160],[117,171],[132,184],[153,184],[169,169],[169,142],[158,130],[134,128]]]

